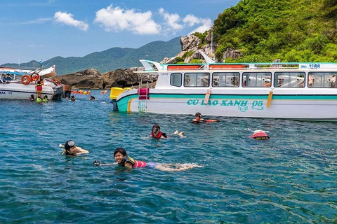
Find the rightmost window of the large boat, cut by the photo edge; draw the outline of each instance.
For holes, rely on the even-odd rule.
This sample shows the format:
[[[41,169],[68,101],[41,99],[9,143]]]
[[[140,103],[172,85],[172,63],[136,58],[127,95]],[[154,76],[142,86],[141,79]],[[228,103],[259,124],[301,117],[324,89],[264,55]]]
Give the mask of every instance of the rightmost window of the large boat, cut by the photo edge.
[[[334,88],[336,87],[337,72],[309,72],[308,87]]]

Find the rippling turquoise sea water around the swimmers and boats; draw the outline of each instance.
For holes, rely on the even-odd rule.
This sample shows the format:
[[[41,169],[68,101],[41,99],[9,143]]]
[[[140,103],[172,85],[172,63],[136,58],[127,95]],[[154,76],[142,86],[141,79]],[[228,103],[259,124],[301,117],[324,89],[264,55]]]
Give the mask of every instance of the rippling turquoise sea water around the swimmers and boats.
[[[337,223],[337,123],[196,125],[192,115],[114,112],[109,94],[92,93],[95,101],[0,100],[0,223]],[[154,123],[186,138],[146,139]],[[250,139],[257,129],[270,140]],[[68,139],[90,154],[62,155]],[[136,160],[204,167],[93,166],[114,162],[117,147]]]

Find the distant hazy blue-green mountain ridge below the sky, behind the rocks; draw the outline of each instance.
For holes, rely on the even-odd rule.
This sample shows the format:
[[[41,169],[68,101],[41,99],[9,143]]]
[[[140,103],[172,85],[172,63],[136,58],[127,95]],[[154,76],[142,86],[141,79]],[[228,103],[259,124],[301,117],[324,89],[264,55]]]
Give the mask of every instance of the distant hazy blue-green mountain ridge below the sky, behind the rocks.
[[[58,75],[74,73],[85,69],[98,69],[100,73],[121,68],[142,66],[139,59],[161,61],[164,57],[173,57],[181,50],[180,37],[171,41],[154,41],[140,48],[110,48],[102,52],[93,52],[84,57],[53,57],[43,64],[56,66]],[[18,64],[3,64],[3,66],[18,66]],[[39,62],[21,63],[20,66],[37,67]]]

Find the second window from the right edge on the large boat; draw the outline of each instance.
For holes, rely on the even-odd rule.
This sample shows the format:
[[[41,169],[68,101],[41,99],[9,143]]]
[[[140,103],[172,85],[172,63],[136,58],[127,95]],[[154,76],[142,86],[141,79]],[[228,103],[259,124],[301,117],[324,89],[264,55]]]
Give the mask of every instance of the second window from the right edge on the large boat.
[[[305,73],[304,72],[275,72],[274,86],[275,87],[304,87]]]

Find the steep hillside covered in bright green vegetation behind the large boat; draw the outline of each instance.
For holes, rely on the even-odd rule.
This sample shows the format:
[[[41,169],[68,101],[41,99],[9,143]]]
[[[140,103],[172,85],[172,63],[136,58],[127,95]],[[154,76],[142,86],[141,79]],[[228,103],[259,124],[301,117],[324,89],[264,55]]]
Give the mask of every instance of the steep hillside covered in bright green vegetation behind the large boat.
[[[337,0],[242,0],[214,21],[218,60],[227,48],[242,57],[225,62],[337,62]]]

